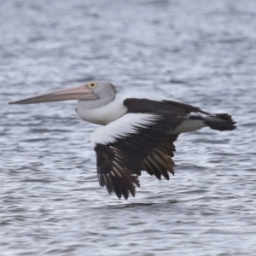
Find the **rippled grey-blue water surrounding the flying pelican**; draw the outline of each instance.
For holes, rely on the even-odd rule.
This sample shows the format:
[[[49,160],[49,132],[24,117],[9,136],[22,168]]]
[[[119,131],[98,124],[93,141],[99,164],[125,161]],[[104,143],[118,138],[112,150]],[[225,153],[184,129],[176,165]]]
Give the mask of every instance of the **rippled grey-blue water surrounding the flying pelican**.
[[[0,255],[255,255],[256,2],[0,2]],[[176,174],[135,198],[101,188],[75,102],[12,105],[107,79],[234,131],[181,135]]]

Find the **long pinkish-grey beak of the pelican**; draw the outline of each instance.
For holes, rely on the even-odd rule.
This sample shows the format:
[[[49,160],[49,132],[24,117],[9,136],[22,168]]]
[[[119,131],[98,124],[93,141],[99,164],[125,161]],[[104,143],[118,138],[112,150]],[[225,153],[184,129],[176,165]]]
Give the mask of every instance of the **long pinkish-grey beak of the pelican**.
[[[41,102],[61,102],[68,100],[96,100],[98,97],[93,93],[92,90],[87,88],[85,85],[62,89],[53,90],[44,94],[38,94],[20,101],[9,102],[9,104],[32,104]]]

